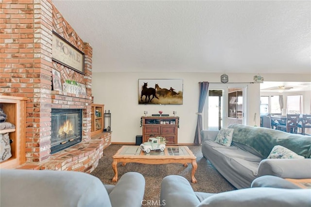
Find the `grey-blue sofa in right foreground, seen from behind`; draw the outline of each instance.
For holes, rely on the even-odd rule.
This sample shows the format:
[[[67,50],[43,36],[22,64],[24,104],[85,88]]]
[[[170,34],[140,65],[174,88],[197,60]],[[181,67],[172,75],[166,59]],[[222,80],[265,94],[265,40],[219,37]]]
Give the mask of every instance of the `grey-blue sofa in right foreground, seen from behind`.
[[[255,179],[257,187],[207,193],[193,191],[189,181],[180,175],[168,175],[161,182],[160,204],[165,207],[310,207],[311,189],[291,188],[291,183],[280,179],[284,188],[261,187],[275,182]]]

